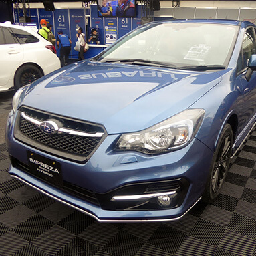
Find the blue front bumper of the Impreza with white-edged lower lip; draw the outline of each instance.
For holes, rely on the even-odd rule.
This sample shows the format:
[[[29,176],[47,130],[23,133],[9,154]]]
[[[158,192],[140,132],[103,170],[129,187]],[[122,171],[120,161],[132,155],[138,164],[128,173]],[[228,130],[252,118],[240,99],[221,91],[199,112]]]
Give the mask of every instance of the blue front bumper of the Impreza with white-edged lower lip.
[[[181,150],[146,156],[136,152],[114,152],[110,145],[118,135],[107,136],[90,160],[81,164],[17,141],[13,137],[12,119],[10,114],[7,146],[12,163],[11,176],[98,221],[176,220],[199,201],[205,188],[209,172],[206,166],[210,166],[213,153],[197,139]],[[63,182],[69,188],[68,185],[66,188],[55,186],[30,174],[28,150],[59,162]],[[164,188],[154,184],[164,184]],[[148,190],[149,186],[154,189]],[[148,203],[145,198],[133,200],[134,196],[160,195],[163,191],[174,195],[170,207],[157,204],[157,197],[149,199]],[[126,200],[127,196],[129,200]]]

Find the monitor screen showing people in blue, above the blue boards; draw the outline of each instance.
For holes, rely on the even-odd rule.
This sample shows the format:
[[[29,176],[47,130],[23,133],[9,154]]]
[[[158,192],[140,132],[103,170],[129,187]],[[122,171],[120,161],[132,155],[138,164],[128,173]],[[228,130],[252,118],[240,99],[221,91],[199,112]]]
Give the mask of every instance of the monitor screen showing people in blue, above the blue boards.
[[[97,0],[99,17],[135,17],[135,0]]]

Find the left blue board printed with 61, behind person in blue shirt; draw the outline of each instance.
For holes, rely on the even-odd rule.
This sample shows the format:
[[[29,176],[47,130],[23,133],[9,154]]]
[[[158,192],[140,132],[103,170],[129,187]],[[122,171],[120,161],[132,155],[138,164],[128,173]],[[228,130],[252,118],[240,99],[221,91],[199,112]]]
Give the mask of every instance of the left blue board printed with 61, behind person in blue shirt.
[[[54,23],[55,23],[55,37],[57,39],[57,31],[61,29],[63,34],[66,34],[70,37],[70,25],[69,25],[69,16],[68,9],[55,9],[54,11]],[[57,55],[59,56],[59,49],[57,48]]]

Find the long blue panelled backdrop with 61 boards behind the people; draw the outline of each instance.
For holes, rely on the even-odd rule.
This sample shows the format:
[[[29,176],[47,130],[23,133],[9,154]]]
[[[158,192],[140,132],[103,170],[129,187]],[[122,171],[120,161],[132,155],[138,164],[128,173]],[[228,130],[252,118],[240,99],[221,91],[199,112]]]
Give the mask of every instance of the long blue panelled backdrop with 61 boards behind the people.
[[[114,0],[117,2],[117,0]],[[114,3],[112,1],[112,3]],[[89,13],[90,11],[90,13]],[[98,17],[97,5],[90,5],[90,8],[81,9],[55,9],[55,11],[45,11],[45,9],[30,9],[31,22],[36,23],[37,28],[41,29],[40,21],[45,19],[47,23],[53,25],[52,32],[57,38],[57,31],[61,29],[66,33],[72,41],[71,58],[78,58],[78,52],[74,51],[76,43],[76,28],[82,27],[84,33],[90,35],[91,28],[96,28],[99,35],[100,45],[110,45],[116,39],[119,39],[132,29],[141,25],[141,6],[136,5],[136,17]],[[22,10],[18,13],[17,9],[13,9],[13,18],[15,23],[19,23],[19,14],[22,16]],[[88,17],[90,14],[90,19]],[[86,21],[88,19],[88,21]],[[93,47],[92,47],[93,49]],[[99,48],[100,49],[100,48]],[[90,54],[88,52],[88,54]],[[59,49],[57,49],[59,56]]]

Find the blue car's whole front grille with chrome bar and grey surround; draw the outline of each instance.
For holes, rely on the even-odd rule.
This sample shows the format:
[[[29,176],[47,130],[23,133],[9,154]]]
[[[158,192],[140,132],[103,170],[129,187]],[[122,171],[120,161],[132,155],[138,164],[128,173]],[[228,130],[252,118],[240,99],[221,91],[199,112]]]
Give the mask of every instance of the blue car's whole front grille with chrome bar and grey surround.
[[[73,134],[65,132],[46,134],[39,125],[33,122],[34,120],[37,123],[45,120],[55,120],[61,124],[61,128],[68,129]],[[16,126],[15,137],[18,140],[45,152],[78,162],[88,160],[106,135],[104,128],[98,124],[71,120],[70,118],[63,118],[29,108],[21,108]],[[84,135],[84,132],[90,136]],[[102,134],[102,136],[94,137],[94,134]]]

